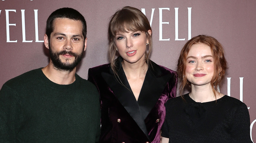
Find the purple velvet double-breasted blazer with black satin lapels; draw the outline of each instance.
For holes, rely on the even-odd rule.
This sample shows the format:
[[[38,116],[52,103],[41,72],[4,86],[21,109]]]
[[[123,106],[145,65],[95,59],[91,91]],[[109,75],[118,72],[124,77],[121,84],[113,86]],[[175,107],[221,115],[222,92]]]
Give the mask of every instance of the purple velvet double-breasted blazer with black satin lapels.
[[[100,94],[101,143],[160,143],[165,103],[176,96],[177,73],[151,61],[136,101],[121,65],[90,68],[88,80]]]

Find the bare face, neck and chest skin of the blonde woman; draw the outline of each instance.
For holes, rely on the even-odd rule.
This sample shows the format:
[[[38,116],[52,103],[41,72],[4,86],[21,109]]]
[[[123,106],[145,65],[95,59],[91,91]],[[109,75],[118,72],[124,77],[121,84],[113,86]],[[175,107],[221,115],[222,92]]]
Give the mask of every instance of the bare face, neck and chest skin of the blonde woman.
[[[148,33],[151,35],[151,30]],[[124,73],[137,101],[148,70],[145,61],[148,41],[146,33],[142,31],[118,33],[114,39],[118,53],[123,58]]]

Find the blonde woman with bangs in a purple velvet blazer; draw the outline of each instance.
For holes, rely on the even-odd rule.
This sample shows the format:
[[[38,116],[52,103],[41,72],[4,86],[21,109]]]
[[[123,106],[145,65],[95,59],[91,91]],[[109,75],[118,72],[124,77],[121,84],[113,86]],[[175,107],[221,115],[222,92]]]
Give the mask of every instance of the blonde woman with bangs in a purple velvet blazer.
[[[176,96],[177,73],[149,59],[151,36],[137,8],[117,10],[110,20],[110,64],[88,73],[100,93],[102,143],[160,142],[164,104]]]

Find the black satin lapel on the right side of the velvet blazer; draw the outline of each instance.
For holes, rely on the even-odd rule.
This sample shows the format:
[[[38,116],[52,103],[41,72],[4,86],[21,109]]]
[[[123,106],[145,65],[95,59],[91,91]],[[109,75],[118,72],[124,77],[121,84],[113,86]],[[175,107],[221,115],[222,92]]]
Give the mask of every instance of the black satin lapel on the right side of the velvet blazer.
[[[151,109],[158,102],[170,77],[170,74],[156,77],[150,70],[147,71],[138,99],[143,119],[147,117]]]

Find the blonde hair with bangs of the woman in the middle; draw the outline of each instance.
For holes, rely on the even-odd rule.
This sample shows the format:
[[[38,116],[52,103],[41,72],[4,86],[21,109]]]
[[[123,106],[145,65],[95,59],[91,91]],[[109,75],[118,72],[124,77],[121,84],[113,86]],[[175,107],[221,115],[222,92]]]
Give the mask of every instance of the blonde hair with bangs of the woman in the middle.
[[[128,31],[141,31],[146,34],[146,37],[149,41],[147,45],[147,50],[145,52],[145,59],[147,64],[150,64],[149,55],[152,51],[152,34],[148,33],[148,30],[151,30],[151,26],[148,22],[147,17],[137,8],[133,7],[123,7],[120,10],[112,15],[109,22],[108,34],[110,38],[109,47],[108,47],[108,57],[110,61],[110,66],[115,75],[117,75],[115,59],[117,53],[117,46],[114,42],[114,38],[118,33],[124,33]]]

